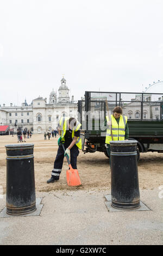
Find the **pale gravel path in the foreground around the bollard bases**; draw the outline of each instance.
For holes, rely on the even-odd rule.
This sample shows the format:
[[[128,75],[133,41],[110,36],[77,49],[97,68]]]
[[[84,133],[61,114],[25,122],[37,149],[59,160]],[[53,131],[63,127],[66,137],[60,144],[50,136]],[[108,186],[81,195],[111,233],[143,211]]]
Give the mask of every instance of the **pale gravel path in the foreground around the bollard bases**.
[[[163,245],[163,199],[141,190],[152,211],[109,212],[110,191],[53,191],[43,197],[40,216],[0,218],[1,245]],[[5,197],[0,199],[0,211]]]

